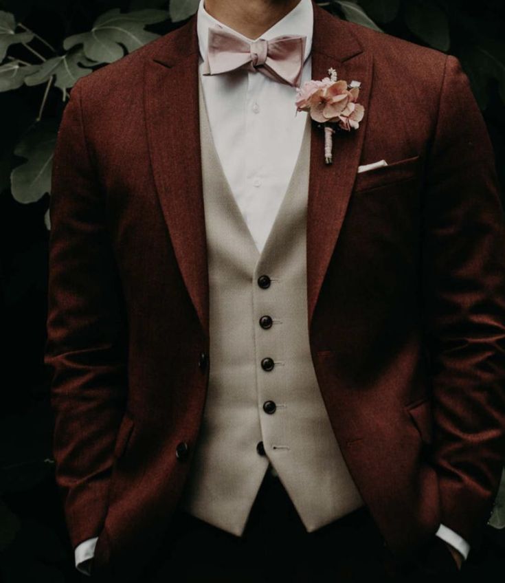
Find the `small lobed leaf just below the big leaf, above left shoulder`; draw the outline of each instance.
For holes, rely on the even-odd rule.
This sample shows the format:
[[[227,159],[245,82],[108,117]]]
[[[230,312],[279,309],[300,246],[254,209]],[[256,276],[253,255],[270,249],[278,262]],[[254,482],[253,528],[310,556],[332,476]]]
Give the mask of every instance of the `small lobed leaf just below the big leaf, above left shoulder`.
[[[81,67],[80,65],[85,65]],[[85,56],[82,47],[74,49],[67,54],[61,56],[54,56],[49,58],[41,65],[36,73],[25,78],[26,85],[39,85],[45,83],[49,77],[56,76],[56,87],[63,91],[63,96],[66,95],[66,90],[69,87],[74,87],[76,81],[89,75],[93,69],[87,67],[96,65],[94,61],[90,61]]]

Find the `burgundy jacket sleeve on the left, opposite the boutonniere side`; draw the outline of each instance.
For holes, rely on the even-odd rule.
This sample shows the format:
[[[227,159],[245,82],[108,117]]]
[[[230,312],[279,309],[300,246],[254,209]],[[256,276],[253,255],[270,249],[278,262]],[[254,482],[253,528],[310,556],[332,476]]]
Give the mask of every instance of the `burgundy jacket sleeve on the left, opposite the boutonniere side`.
[[[73,547],[98,536],[126,397],[126,325],[106,204],[85,136],[81,81],[56,140],[45,364],[56,482]]]

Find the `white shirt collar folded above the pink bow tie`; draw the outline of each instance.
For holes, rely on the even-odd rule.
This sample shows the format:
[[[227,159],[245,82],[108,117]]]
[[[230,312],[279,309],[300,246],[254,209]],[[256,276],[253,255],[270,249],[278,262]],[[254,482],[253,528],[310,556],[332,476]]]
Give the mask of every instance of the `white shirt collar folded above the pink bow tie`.
[[[265,31],[258,39],[248,39],[247,36],[240,34],[236,30],[230,28],[229,26],[221,23],[212,17],[203,6],[203,1],[200,0],[200,4],[197,12],[197,33],[198,33],[198,43],[201,58],[205,59],[207,54],[207,39],[208,30],[210,26],[220,26],[225,28],[234,34],[240,36],[246,41],[256,41],[258,39],[265,39],[269,41],[273,39],[274,36],[280,36],[282,34],[300,34],[307,37],[305,44],[305,56],[304,61],[311,53],[312,48],[312,31],[313,31],[313,8],[311,0],[300,0],[300,2],[288,12],[285,17],[277,21],[269,30]]]

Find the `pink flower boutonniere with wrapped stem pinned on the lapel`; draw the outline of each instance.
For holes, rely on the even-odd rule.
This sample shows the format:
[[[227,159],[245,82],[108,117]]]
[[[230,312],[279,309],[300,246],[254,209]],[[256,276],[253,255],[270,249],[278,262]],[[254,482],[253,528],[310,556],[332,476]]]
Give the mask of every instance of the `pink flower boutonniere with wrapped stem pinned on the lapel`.
[[[335,69],[328,69],[329,77],[310,80],[297,89],[296,111],[307,111],[311,118],[324,125],[324,162],[333,161],[333,134],[335,128],[350,131],[358,129],[365,108],[357,103],[359,81],[337,80]]]

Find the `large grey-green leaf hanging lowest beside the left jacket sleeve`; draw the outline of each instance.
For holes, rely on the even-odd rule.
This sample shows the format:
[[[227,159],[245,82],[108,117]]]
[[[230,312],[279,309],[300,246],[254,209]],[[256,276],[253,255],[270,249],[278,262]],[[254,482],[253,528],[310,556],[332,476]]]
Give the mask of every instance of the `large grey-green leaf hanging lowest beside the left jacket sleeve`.
[[[14,149],[14,154],[27,159],[10,175],[12,196],[16,201],[35,202],[50,192],[57,131],[53,121],[38,122]]]

